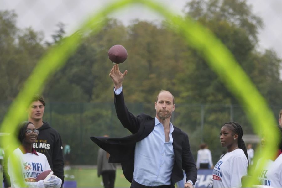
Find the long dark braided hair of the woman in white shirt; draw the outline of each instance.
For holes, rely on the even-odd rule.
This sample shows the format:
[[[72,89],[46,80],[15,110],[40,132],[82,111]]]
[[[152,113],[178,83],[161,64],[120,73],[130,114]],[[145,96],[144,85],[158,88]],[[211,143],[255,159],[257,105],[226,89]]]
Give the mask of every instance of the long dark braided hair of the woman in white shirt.
[[[247,148],[246,148],[246,145],[245,145],[245,142],[244,140],[242,139],[242,136],[243,136],[243,129],[241,127],[241,125],[237,122],[227,122],[227,123],[224,123],[224,126],[226,126],[228,128],[230,128],[234,133],[238,134],[238,148],[242,149],[247,157],[247,160],[248,160],[248,164],[249,164],[249,159],[248,159],[248,153],[247,153]],[[230,126],[228,126],[230,125]]]

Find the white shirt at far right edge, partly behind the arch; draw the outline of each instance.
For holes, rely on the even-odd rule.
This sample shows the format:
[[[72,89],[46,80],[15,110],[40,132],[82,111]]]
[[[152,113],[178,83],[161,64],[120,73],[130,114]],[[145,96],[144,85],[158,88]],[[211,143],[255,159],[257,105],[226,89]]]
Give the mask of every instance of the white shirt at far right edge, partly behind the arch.
[[[282,155],[267,166],[267,169],[262,170],[260,178],[263,178],[262,185],[282,187]]]

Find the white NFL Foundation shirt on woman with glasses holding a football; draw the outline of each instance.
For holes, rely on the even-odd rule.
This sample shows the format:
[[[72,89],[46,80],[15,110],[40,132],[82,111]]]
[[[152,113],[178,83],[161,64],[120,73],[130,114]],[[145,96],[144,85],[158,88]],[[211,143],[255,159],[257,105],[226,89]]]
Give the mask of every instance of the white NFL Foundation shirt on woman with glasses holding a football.
[[[40,187],[39,182],[34,182],[36,177],[43,171],[51,170],[46,156],[37,152],[38,155],[32,153],[25,153],[17,148],[13,151],[20,162],[20,169],[22,177],[28,187]],[[20,187],[19,180],[17,180],[14,172],[10,168],[12,165],[11,156],[8,158],[8,174],[11,180],[11,187]]]

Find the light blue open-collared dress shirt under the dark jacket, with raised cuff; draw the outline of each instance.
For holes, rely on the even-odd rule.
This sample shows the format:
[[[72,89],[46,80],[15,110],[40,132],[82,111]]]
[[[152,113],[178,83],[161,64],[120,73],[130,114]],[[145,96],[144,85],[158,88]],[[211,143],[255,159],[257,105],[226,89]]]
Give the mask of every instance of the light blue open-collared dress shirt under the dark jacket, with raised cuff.
[[[119,95],[122,87],[115,90]],[[171,173],[174,165],[173,132],[170,123],[170,140],[165,142],[164,126],[155,118],[153,131],[143,140],[136,143],[133,179],[145,186],[171,184]]]

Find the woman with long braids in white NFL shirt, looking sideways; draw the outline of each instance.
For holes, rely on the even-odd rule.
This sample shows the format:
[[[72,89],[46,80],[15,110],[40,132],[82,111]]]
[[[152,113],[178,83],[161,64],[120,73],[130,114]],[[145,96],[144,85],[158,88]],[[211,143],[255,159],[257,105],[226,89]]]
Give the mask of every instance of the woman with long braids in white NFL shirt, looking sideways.
[[[219,135],[220,144],[227,147],[227,153],[213,169],[212,187],[241,187],[241,178],[247,175],[248,168],[242,127],[236,122],[225,123]]]

